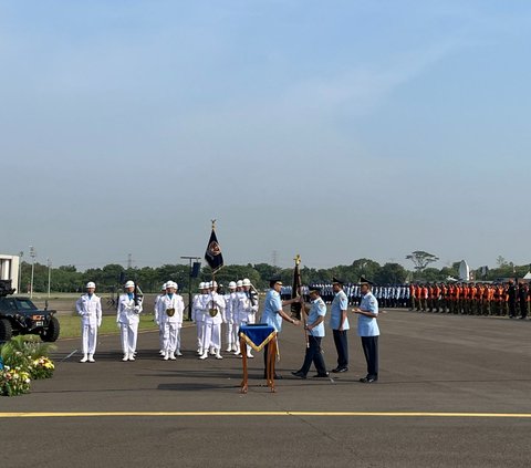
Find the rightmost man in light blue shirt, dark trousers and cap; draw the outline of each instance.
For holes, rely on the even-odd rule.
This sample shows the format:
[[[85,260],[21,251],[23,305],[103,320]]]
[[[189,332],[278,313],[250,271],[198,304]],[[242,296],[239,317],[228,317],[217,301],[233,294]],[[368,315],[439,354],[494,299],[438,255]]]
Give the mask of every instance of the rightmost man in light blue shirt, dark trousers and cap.
[[[378,379],[378,336],[379,329],[376,318],[378,316],[378,301],[371,292],[372,282],[362,278],[362,302],[353,309],[357,318],[357,334],[362,339],[362,347],[367,362],[367,375],[360,378],[364,384],[371,384]]]

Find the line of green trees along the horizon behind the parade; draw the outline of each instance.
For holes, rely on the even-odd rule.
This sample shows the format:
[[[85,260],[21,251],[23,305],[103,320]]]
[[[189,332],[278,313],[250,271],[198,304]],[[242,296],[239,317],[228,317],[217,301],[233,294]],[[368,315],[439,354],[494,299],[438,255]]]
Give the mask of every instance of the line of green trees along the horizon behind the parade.
[[[458,278],[459,262],[441,269],[425,267],[409,271],[399,263],[387,262],[379,264],[371,259],[357,259],[351,264],[336,266],[327,269],[301,268],[302,281],[305,284],[327,283],[333,277],[341,278],[346,282],[355,283],[361,277],[371,279],[376,284],[403,284],[410,281],[435,282],[446,281],[448,277]],[[499,278],[522,278],[529,270],[529,266],[514,266],[513,263],[498,261],[497,268],[476,273],[477,280],[496,280]],[[268,288],[270,278],[280,275],[284,284],[291,284],[293,268],[281,269],[268,263],[229,264],[223,267],[217,274],[218,283],[228,284],[249,278],[259,290]],[[31,263],[22,262],[21,266],[21,292],[30,289]],[[190,278],[190,268],[187,264],[163,264],[157,268],[124,268],[121,264],[110,263],[103,268],[93,268],[86,271],[77,271],[74,266],[62,266],[50,270],[50,289],[53,292],[81,292],[85,283],[94,281],[100,292],[114,292],[121,288],[121,280],[136,281],[144,292],[158,292],[165,281],[173,280],[179,284],[181,291],[188,291],[191,287],[196,291],[199,282],[210,281],[211,270],[209,267],[200,269],[198,278]],[[48,291],[49,268],[45,264],[34,264],[33,291]]]

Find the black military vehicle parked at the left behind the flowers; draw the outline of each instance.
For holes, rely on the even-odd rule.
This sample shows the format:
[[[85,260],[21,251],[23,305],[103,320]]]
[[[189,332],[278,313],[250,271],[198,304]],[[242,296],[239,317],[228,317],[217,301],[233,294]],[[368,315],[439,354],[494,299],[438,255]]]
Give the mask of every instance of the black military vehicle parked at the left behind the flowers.
[[[59,320],[55,311],[40,310],[28,298],[11,294],[11,280],[0,280],[0,343],[14,335],[40,335],[42,341],[54,342],[59,337]]]

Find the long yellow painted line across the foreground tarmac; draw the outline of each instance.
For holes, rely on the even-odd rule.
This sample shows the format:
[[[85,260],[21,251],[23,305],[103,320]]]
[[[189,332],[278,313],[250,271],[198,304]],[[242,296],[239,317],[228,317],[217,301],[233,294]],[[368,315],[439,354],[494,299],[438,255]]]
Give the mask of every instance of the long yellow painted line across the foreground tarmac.
[[[237,417],[237,416],[308,416],[308,417],[436,417],[436,418],[512,418],[531,419],[531,413],[386,413],[386,412],[85,412],[85,413],[0,413],[6,418],[46,417]]]

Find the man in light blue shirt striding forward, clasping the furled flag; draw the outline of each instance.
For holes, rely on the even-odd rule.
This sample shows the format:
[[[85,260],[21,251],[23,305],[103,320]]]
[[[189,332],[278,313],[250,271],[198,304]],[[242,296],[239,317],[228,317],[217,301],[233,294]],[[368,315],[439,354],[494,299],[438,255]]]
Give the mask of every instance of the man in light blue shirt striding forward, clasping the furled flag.
[[[317,374],[315,377],[327,377],[326,366],[324,365],[323,353],[321,351],[321,340],[324,336],[324,316],[326,315],[326,304],[321,299],[321,288],[310,287],[310,301],[312,305],[304,306],[303,313],[308,313],[308,341],[306,355],[304,363],[299,371],[292,372],[295,377],[306,378],[310,366],[315,365]]]

